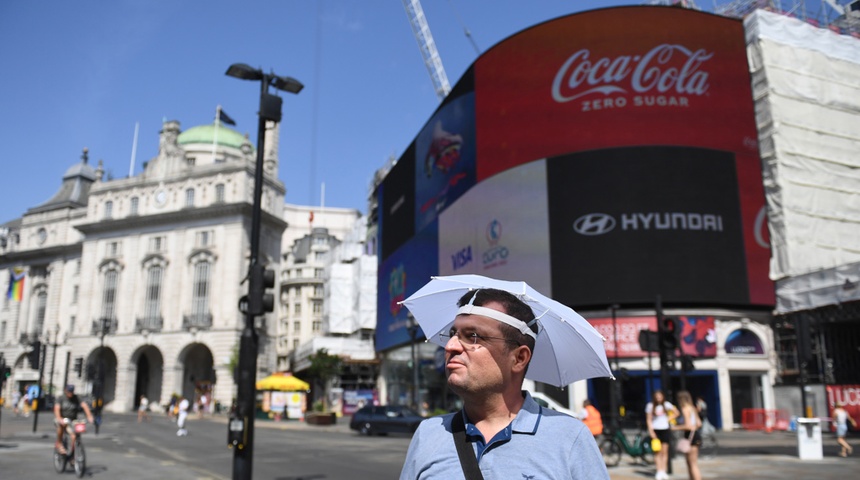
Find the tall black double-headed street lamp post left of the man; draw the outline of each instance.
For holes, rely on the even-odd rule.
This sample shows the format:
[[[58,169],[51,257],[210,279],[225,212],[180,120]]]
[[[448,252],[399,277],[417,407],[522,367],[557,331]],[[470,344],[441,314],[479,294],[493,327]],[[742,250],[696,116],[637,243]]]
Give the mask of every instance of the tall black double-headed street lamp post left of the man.
[[[245,326],[239,340],[238,392],[236,394],[236,412],[231,417],[228,426],[228,438],[235,440],[233,449],[233,479],[251,480],[254,460],[254,408],[255,383],[257,371],[258,337],[254,330],[254,317],[261,315],[260,300],[251,298],[255,292],[262,292],[259,270],[260,257],[260,221],[262,217],[263,197],[263,154],[265,152],[266,122],[281,121],[281,98],[269,94],[269,86],[285,92],[299,93],[304,85],[292,77],[279,77],[274,73],[264,73],[244,63],[230,65],[227,76],[240,80],[260,81],[260,111],[257,123],[257,162],[254,169],[254,205],[251,210],[251,257],[248,265],[248,309],[245,314]]]

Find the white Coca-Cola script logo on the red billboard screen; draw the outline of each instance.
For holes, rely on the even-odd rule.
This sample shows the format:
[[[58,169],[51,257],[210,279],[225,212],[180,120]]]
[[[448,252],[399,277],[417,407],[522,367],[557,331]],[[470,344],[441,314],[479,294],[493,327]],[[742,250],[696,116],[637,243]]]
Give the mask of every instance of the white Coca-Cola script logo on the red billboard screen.
[[[703,64],[714,56],[705,49],[662,44],[644,55],[592,60],[582,49],[568,57],[552,82],[552,98],[569,102],[593,93],[656,93],[700,96],[708,91]]]

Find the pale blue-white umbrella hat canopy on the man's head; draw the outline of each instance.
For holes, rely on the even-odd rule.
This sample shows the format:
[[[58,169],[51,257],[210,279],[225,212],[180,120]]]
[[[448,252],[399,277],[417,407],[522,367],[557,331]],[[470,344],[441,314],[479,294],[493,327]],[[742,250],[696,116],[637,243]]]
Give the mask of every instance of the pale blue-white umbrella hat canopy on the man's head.
[[[612,377],[604,338],[572,308],[544,296],[525,282],[496,280],[481,275],[432,277],[402,303],[409,309],[428,341],[445,346],[457,316],[457,301],[466,292],[494,288],[512,293],[531,307],[538,334],[526,378],[563,387],[578,380]]]

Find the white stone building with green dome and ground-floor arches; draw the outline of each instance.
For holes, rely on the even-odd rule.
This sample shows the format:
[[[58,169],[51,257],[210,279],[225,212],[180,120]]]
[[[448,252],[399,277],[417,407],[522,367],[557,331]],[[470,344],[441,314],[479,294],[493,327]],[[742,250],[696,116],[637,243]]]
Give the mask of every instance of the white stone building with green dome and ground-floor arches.
[[[287,225],[276,124],[266,138],[260,255],[277,269]],[[141,395],[166,404],[205,392],[229,405],[255,158],[246,137],[217,122],[182,132],[167,121],[140,174],[105,180],[85,151],[52,199],[4,225],[0,268],[9,275],[0,288],[21,292],[0,309],[0,351],[13,364],[7,390],[38,380],[27,360],[38,340],[48,393],[65,382],[90,393],[101,385],[112,411],[134,408]],[[257,328],[267,373],[274,328],[264,320]]]

